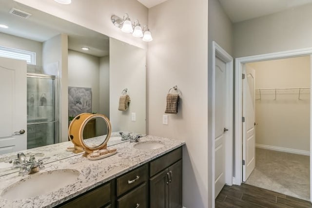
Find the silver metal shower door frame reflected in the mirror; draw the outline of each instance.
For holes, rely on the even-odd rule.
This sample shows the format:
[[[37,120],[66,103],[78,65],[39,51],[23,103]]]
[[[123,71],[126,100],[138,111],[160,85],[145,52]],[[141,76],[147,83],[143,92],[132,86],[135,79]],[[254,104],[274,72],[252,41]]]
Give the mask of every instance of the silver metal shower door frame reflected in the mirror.
[[[54,75],[44,75],[44,74],[36,74],[36,73],[27,73],[27,78],[42,78],[42,79],[53,79],[54,80],[54,89],[53,89],[53,97],[54,97],[54,121],[44,121],[44,122],[33,122],[30,125],[36,124],[48,124],[54,123],[54,144],[59,143],[59,83],[58,83],[58,76]],[[28,122],[27,122],[28,126]]]

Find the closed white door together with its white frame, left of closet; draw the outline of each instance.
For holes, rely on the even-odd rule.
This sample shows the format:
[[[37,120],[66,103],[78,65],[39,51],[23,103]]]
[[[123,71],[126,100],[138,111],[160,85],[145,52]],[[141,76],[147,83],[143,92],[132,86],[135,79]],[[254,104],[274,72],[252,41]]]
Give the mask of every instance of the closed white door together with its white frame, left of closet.
[[[213,41],[213,199],[233,184],[233,58]]]

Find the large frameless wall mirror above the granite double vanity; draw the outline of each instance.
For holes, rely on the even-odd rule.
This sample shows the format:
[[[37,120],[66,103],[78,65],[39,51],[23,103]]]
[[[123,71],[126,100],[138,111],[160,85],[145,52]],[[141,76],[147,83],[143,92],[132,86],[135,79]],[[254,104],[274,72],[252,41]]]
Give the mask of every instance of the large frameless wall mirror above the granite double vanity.
[[[24,17],[27,13],[30,16]],[[21,98],[15,101],[15,91],[8,91],[14,87],[1,85],[4,90],[0,96],[18,103],[23,111],[0,118],[0,132],[7,132],[0,133],[0,154],[21,151],[17,149],[19,142],[29,150],[68,141],[68,124],[79,113],[106,115],[112,124],[112,144],[117,143],[114,136],[119,132],[146,133],[144,49],[13,0],[0,0],[0,16],[0,24],[8,26],[0,27],[0,56],[28,58]],[[4,77],[10,68],[0,65],[0,76]],[[126,111],[119,111],[124,89],[130,103]],[[1,104],[1,114],[8,112],[4,107],[12,102]],[[19,120],[25,127],[16,125]],[[100,122],[92,121],[88,126],[89,135],[98,135],[102,130]],[[23,135],[19,132],[22,129]],[[12,142],[5,143],[3,138]]]

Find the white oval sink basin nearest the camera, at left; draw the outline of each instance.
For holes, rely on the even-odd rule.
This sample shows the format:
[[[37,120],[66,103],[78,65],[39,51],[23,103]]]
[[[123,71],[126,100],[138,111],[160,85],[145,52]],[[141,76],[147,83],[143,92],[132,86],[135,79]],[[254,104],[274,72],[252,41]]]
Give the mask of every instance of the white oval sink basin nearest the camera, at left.
[[[79,171],[73,169],[38,172],[4,189],[1,197],[20,200],[44,195],[75,183],[78,176]]]

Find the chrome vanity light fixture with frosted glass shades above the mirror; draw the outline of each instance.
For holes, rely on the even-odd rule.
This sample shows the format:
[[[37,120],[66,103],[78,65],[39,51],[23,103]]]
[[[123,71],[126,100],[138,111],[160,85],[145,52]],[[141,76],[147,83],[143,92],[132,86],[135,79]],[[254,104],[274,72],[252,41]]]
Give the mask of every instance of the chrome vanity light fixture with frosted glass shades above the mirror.
[[[141,27],[141,25],[137,19],[132,24],[128,14],[125,14],[123,16],[123,19],[119,18],[116,15],[113,15],[111,17],[111,20],[112,20],[113,24],[116,27],[120,28],[121,31],[124,33],[132,33],[132,36],[136,37],[136,38],[142,38],[143,37],[142,40],[146,41],[146,42],[153,40],[151,32],[148,29],[148,26],[144,25],[144,27],[142,29],[142,27]]]

